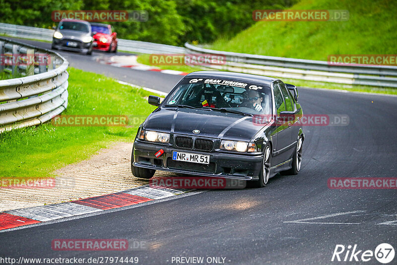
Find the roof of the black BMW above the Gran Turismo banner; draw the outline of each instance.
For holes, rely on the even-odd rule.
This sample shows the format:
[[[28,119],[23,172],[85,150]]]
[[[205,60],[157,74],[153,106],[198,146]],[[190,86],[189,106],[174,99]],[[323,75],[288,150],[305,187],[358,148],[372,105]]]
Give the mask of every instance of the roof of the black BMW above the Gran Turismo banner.
[[[185,77],[231,79],[236,81],[244,81],[246,83],[264,84],[269,87],[273,81],[279,80],[274,77],[268,77],[263,75],[255,75],[255,74],[240,73],[240,72],[227,72],[227,71],[197,71],[197,72],[191,72]]]

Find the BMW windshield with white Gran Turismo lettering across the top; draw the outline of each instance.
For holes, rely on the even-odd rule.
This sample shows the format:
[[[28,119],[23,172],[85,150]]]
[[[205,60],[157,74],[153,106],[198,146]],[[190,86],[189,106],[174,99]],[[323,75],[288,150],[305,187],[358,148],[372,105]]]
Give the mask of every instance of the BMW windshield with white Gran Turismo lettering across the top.
[[[271,115],[270,88],[235,80],[185,78],[167,96],[164,106],[222,109]]]

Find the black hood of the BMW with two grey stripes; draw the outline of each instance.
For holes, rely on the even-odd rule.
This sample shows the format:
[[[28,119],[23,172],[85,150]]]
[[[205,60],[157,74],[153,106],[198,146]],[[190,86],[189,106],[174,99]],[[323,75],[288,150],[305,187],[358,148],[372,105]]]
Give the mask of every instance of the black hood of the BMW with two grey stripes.
[[[145,130],[170,132],[230,140],[251,140],[265,126],[255,125],[253,117],[193,109],[159,109],[143,125]],[[199,130],[199,133],[193,133]]]

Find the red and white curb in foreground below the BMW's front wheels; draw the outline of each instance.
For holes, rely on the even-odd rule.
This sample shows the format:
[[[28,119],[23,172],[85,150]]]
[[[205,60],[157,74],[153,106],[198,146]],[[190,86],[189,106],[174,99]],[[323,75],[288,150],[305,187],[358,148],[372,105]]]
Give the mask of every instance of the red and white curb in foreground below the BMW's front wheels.
[[[121,208],[146,201],[163,199],[192,191],[141,186],[123,192],[79,199],[70,202],[34,206],[0,212],[0,230],[71,217],[86,213]]]

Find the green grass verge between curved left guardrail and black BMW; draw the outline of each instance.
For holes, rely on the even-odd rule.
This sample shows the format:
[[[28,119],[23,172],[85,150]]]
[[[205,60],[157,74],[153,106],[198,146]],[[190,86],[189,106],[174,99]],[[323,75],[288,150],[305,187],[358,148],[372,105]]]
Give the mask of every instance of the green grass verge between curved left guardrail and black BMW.
[[[101,74],[68,68],[68,106],[63,115],[127,115],[143,120],[155,107],[150,92]],[[130,125],[131,123],[129,123]],[[56,127],[51,123],[0,133],[0,177],[48,177],[55,169],[89,158],[116,141],[133,141],[131,127]]]

